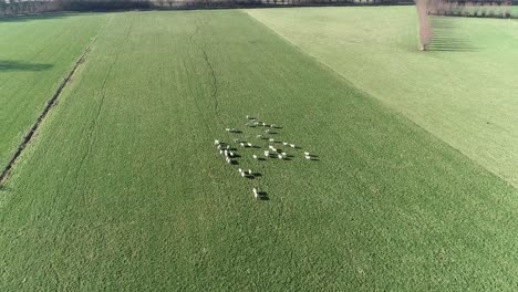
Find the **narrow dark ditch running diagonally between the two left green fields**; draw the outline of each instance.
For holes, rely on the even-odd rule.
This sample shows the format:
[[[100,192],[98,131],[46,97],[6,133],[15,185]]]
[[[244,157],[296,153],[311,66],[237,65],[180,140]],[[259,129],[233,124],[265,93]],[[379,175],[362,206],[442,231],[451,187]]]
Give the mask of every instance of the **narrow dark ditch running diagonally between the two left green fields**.
[[[72,76],[74,73],[77,71],[77,67],[84,63],[86,58],[89,56],[91,49],[90,46],[86,48],[86,50],[83,52],[83,54],[80,56],[80,59],[75,62],[74,66],[72,70],[66,74],[66,76],[63,79],[61,82],[60,86],[58,90],[54,92],[54,95],[52,95],[51,100],[46,102],[46,106],[43,108],[43,112],[40,114],[38,117],[37,122],[32,125],[30,128],[29,133],[23,137],[22,143],[20,146],[18,146],[18,150],[14,153],[13,157],[11,160],[9,160],[9,164],[3,168],[2,173],[0,174],[0,187],[2,186],[3,181],[7,179],[9,174],[11,173],[11,169],[14,167],[14,165],[18,161],[18,158],[23,154],[23,150],[27,148],[27,146],[31,143],[32,138],[34,137],[34,134],[38,132],[38,128],[40,125],[44,122],[45,117],[49,115],[50,111],[54,105],[58,104],[58,98],[60,97],[61,93],[63,92],[64,87],[69,82],[72,80]]]

